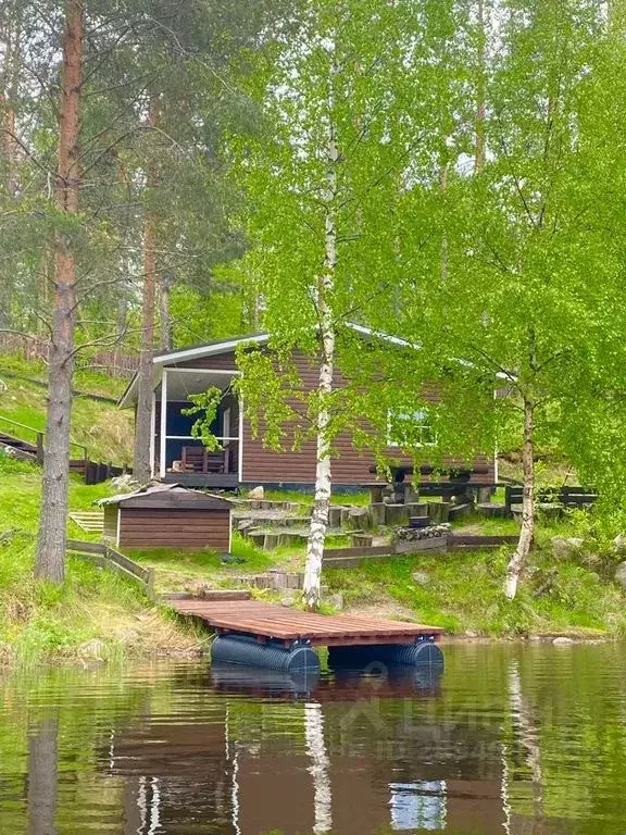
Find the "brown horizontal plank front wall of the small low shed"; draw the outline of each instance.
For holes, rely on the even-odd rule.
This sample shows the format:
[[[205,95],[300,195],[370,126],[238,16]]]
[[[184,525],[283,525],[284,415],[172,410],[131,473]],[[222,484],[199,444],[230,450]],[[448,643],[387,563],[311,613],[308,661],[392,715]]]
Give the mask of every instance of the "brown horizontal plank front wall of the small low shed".
[[[120,548],[227,551],[229,545],[229,510],[122,508]]]

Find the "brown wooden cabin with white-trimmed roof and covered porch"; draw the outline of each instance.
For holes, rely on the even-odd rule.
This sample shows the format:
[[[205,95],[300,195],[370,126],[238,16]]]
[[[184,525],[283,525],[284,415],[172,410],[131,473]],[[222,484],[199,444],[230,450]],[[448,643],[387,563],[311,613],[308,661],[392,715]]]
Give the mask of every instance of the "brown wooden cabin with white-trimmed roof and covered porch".
[[[353,328],[364,339],[388,338],[393,344],[401,340],[381,337],[362,326]],[[153,358],[153,394],[151,414],[152,476],[165,483],[179,483],[189,487],[217,487],[234,489],[239,486],[263,485],[268,488],[302,489],[315,483],[315,441],[310,439],[298,451],[289,444],[280,452],[263,447],[262,438],[252,437],[251,425],[243,414],[231,385],[240,374],[236,349],[241,344],[266,345],[270,334],[235,337],[208,342],[195,348],[183,348],[155,354]],[[404,344],[405,345],[405,344]],[[317,370],[304,354],[296,353],[304,390],[317,384]],[[336,372],[340,385],[340,371]],[[216,386],[224,391],[212,433],[222,450],[211,452],[192,437],[196,418],[185,415],[189,408],[189,395]],[[137,377],[129,383],[123,395],[121,408],[135,407]],[[356,449],[351,435],[343,433],[334,443],[333,460],[335,488],[358,488],[372,482],[374,454]],[[398,446],[388,449],[390,458],[410,464],[412,459]],[[447,465],[467,469],[467,464],[449,459]],[[494,457],[483,457],[471,468],[470,485],[490,486],[496,483]]]

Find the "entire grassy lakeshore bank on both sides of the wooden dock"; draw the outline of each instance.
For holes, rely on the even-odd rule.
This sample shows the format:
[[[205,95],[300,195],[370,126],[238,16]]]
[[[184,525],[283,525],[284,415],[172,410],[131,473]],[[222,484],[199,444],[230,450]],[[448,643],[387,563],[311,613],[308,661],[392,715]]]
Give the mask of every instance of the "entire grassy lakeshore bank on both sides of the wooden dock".
[[[5,472],[8,466],[16,472]],[[108,493],[108,485],[86,487],[75,481],[71,488],[72,509],[89,509],[96,498]],[[38,497],[38,471],[21,462],[2,463],[0,459],[0,536],[2,531],[22,532],[0,544],[0,657],[3,647],[8,651],[7,645],[16,648],[21,656],[72,656],[91,638],[103,640],[111,652],[122,647],[147,650],[197,645],[197,636],[180,630],[161,610],[151,607],[132,584],[79,560],[70,560],[67,579],[60,590],[33,583]],[[497,533],[500,527],[502,533],[511,533],[512,523],[490,521],[484,529]],[[68,529],[75,537],[88,537],[73,524]],[[540,547],[533,557],[538,578],[528,578],[513,603],[502,597],[508,549],[393,557],[360,569],[325,571],[324,583],[329,593],[343,594],[349,610],[411,618],[445,626],[452,633],[626,634],[621,590],[577,562],[559,563],[551,590],[534,596],[541,576],[554,565],[548,544],[555,533],[571,532],[563,526],[540,532]],[[245,560],[242,564],[223,565],[214,553],[137,551],[129,556],[156,568],[161,591],[193,589],[204,584],[231,586],[234,574],[276,566],[301,570],[303,565],[303,548],[267,553],[235,535],[233,550]],[[415,582],[416,571],[421,572],[422,582]]]

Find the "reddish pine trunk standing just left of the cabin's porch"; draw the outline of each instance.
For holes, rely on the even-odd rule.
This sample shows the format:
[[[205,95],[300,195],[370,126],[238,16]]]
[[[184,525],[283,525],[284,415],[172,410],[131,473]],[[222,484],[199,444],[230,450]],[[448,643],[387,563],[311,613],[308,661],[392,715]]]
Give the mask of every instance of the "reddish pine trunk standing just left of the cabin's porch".
[[[159,123],[159,99],[150,98],[148,121],[150,127]],[[147,176],[148,198],[156,186],[156,173],[150,165]],[[152,410],[152,372],[154,356],[154,303],[156,290],[155,222],[148,204],[143,220],[143,289],[141,296],[141,348],[137,372],[137,411],[135,413],[135,458],[133,474],[145,484],[152,474],[150,461],[150,413]]]

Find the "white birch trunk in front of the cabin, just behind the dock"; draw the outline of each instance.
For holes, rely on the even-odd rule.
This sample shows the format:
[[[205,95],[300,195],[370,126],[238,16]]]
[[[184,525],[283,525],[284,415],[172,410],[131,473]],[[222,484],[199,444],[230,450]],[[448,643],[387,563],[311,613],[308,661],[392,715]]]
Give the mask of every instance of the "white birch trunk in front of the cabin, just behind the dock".
[[[320,606],[320,588],[322,585],[322,559],[324,541],[328,527],[328,510],[330,507],[330,490],[333,478],[330,473],[330,411],[328,400],[333,394],[333,374],[335,365],[335,322],[333,316],[331,295],[335,288],[335,271],[337,267],[337,219],[335,201],[337,197],[337,161],[339,151],[335,136],[335,127],[328,128],[328,172],[326,191],[326,232],[324,271],[318,282],[317,306],[322,338],[322,362],[317,383],[317,454],[315,465],[315,502],[309,528],[306,544],[306,568],[304,570],[304,605],[309,609]]]

